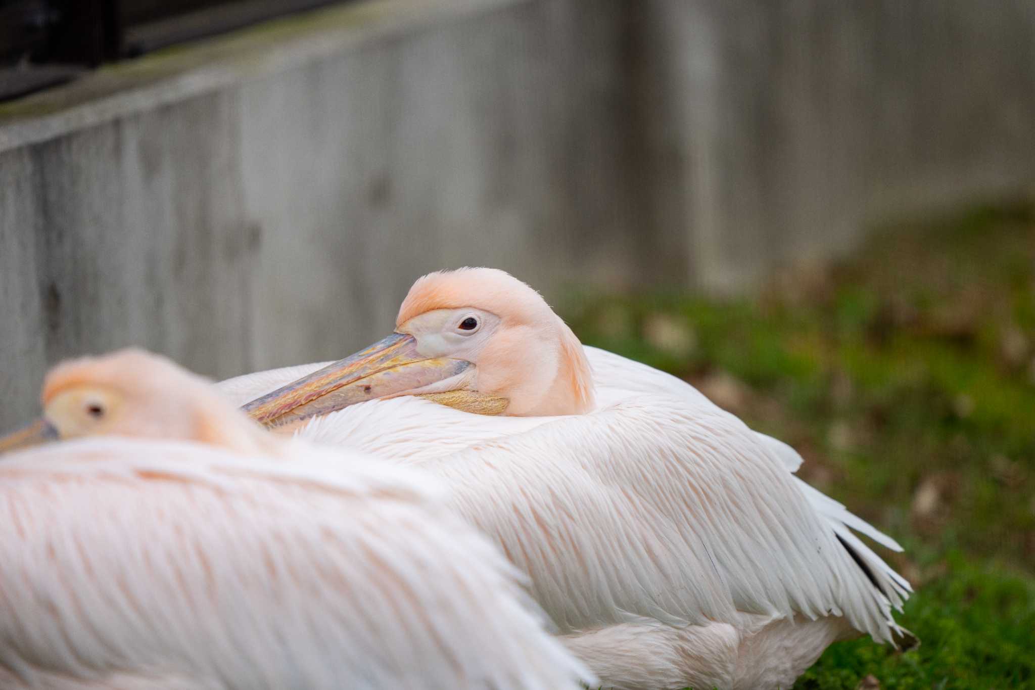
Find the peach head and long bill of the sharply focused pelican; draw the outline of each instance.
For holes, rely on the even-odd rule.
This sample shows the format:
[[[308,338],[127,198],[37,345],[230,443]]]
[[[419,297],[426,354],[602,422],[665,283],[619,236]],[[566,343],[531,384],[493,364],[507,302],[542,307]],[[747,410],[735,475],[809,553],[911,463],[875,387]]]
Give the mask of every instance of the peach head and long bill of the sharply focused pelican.
[[[398,395],[516,416],[593,407],[582,344],[542,297],[503,271],[462,268],[418,278],[392,334],[242,409],[279,426]]]

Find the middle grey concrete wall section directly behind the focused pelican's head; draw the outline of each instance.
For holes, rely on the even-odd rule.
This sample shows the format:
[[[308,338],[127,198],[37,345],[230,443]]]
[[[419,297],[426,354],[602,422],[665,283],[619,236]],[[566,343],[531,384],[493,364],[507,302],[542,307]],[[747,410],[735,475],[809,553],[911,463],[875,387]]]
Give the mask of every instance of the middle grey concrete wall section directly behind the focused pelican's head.
[[[443,267],[633,280],[621,9],[518,3],[244,87],[258,360],[364,344]]]

